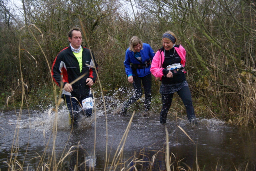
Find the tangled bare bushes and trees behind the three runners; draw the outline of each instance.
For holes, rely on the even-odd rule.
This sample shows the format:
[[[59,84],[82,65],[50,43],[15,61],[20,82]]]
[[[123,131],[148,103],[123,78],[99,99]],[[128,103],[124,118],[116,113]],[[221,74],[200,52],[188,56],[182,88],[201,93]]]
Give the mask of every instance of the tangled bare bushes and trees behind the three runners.
[[[156,52],[171,30],[186,49],[187,80],[197,117],[256,127],[256,3],[252,0],[0,0],[0,106],[54,106],[60,89],[50,68],[72,26],[99,64],[96,97],[126,100],[124,56],[132,36]],[[153,78],[154,80],[154,78]],[[101,87],[100,87],[101,85]],[[161,108],[152,82],[152,108]],[[122,90],[122,91],[121,91]],[[126,90],[126,91],[124,91]],[[102,91],[102,93],[100,92]],[[176,98],[170,113],[186,115]],[[100,98],[99,98],[100,99]],[[25,103],[26,102],[26,103]],[[98,108],[103,108],[98,101]],[[116,107],[113,100],[106,100]],[[156,107],[158,106],[158,107]],[[155,107],[155,108],[154,108]]]

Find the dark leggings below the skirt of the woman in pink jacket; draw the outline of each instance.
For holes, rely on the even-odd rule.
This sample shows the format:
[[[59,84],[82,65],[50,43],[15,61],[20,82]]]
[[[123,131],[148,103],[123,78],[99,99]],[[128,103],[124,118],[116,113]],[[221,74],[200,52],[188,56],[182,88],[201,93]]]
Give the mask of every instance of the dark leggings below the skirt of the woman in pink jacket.
[[[192,104],[192,97],[188,86],[182,87],[182,89],[177,91],[178,95],[182,99],[188,116],[188,121],[191,122],[195,118],[195,111]],[[167,113],[172,104],[172,97],[174,93],[162,94],[162,110],[160,112],[160,123],[166,123]]]

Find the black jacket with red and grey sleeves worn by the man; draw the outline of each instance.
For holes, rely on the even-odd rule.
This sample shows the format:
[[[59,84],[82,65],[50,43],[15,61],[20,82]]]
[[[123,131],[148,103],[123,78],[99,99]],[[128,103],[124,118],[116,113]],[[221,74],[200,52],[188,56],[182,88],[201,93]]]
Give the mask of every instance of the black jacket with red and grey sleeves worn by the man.
[[[52,65],[52,77],[60,87],[61,85],[64,87],[65,84],[71,83],[83,74],[86,74],[83,78],[72,84],[73,91],[71,95],[80,98],[88,97],[90,86],[86,85],[86,79],[91,78],[95,83],[97,78],[96,72],[98,72],[98,64],[92,52],[85,47],[83,47],[82,52],[82,72],[80,72],[78,60],[74,56],[70,46],[63,49],[56,56]]]

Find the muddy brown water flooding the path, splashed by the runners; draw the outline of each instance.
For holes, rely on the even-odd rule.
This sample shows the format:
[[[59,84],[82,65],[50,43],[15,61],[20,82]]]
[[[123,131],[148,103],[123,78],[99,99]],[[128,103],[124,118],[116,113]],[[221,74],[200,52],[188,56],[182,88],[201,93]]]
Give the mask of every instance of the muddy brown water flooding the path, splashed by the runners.
[[[198,126],[193,126],[186,117],[184,120],[168,117],[165,129],[159,123],[158,115],[152,113],[150,117],[141,117],[140,112],[135,113],[119,162],[124,164],[118,165],[117,170],[133,165],[138,170],[165,170],[166,129],[170,163],[174,170],[177,167],[196,170],[197,165],[204,171],[256,170],[255,129],[231,127],[217,119],[202,118]],[[93,120],[89,126],[82,122],[79,129],[71,132],[67,111],[60,109],[55,141],[56,159],[60,161],[69,149],[78,153],[70,153],[59,170],[74,170],[75,165],[79,165],[78,170],[92,170],[93,166],[96,171],[102,171],[105,167],[108,170],[131,117],[132,112],[127,116],[108,112],[106,125],[106,116],[102,111],[97,111],[96,124]],[[42,166],[38,168],[40,157],[44,157],[43,162],[47,163],[52,156],[54,118],[55,113],[48,111],[1,113],[0,170],[8,170],[7,163],[11,157],[16,158],[24,170],[42,170]],[[83,119],[81,121],[86,121]]]

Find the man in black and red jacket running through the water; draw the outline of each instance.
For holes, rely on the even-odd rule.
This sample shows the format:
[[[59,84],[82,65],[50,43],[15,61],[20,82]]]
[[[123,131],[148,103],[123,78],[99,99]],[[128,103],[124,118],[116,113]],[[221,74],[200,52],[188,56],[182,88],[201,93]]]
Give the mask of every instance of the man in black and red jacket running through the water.
[[[66,101],[72,128],[78,126],[80,113],[86,117],[92,115],[90,86],[96,81],[98,64],[92,52],[81,46],[82,32],[80,28],[73,27],[68,32],[68,41],[70,46],[64,48],[54,60],[52,77],[58,86],[63,86],[62,98]],[[80,77],[82,77],[80,80],[70,84]],[[88,101],[89,103],[87,103]],[[79,103],[83,104],[83,110]]]

